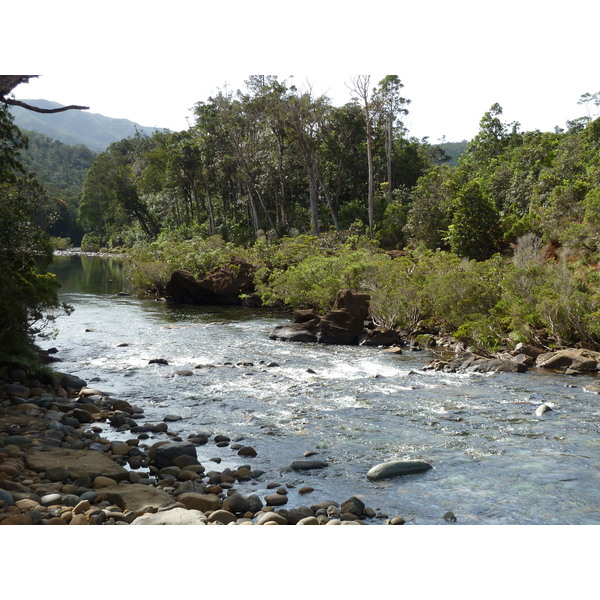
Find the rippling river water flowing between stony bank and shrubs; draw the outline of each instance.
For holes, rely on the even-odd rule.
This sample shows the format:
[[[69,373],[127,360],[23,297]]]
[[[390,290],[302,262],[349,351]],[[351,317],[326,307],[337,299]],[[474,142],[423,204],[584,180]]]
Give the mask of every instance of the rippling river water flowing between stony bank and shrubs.
[[[53,270],[75,308],[57,321],[56,368],[143,407],[143,422],[182,416],[170,430],[183,439],[243,437],[256,458],[198,447],[207,470],[266,472],[243,494],[264,496],[279,481],[296,485],[289,506],[358,495],[415,524],[444,523],[449,510],[462,524],[600,523],[600,396],[583,390],[591,376],[422,371],[424,352],[269,340],[282,314],[117,296],[127,282],[116,259],[58,256]],[[186,369],[193,375],[175,374]],[[536,417],[542,402],[554,410]],[[309,450],[329,467],[285,469]],[[220,465],[205,462],[213,457]],[[434,468],[366,479],[375,464],[405,458]],[[302,497],[303,485],[316,491]]]

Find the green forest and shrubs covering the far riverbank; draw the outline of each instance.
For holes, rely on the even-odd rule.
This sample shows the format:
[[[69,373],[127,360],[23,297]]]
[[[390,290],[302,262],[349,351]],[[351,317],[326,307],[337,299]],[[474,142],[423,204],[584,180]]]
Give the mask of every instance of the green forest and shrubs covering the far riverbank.
[[[351,287],[370,295],[377,326],[409,337],[600,347],[600,93],[552,132],[521,131],[494,104],[456,159],[410,137],[398,76],[349,87],[353,100],[333,106],[251,76],[198,102],[187,130],[95,155],[81,194],[67,194],[76,217],[57,227],[46,202],[54,228],[42,229],[125,250],[137,284],[159,293],[174,269],[201,277],[243,260],[266,306],[324,310]],[[3,138],[18,137],[3,119]],[[15,156],[2,167],[13,191]]]

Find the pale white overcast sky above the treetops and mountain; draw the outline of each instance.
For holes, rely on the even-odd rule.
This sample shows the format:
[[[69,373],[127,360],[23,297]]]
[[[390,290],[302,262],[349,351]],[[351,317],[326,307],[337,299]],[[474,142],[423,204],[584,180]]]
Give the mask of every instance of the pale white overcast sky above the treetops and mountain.
[[[600,90],[596,12],[590,0],[33,0],[3,7],[19,25],[0,69],[41,75],[17,98],[173,130],[251,74],[309,81],[336,104],[352,76],[396,74],[410,134],[456,141],[495,102],[525,130],[583,116],[580,96]]]

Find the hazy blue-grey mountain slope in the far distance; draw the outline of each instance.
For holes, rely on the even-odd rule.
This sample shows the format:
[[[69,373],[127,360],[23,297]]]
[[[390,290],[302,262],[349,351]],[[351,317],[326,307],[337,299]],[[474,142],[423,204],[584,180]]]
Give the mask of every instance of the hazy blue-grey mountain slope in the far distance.
[[[64,106],[49,100],[23,102],[38,108]],[[15,118],[15,125],[21,129],[43,133],[71,146],[83,144],[95,152],[102,152],[109,144],[134,136],[136,131],[146,135],[152,135],[156,131],[156,127],[143,127],[127,119],[113,119],[86,110],[42,114],[12,106],[10,111]]]

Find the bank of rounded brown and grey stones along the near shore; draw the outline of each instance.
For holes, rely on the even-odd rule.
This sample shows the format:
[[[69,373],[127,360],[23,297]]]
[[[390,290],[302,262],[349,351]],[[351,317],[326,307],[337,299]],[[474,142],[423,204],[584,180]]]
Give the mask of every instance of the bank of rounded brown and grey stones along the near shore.
[[[250,446],[198,432],[182,440],[160,423],[143,423],[143,410],[87,387],[77,377],[58,381],[11,370],[0,383],[0,524],[3,525],[364,525],[403,524],[358,497],[316,499],[290,507],[287,487],[264,482],[263,497],[236,488],[264,472]],[[124,441],[111,441],[110,432]],[[200,445],[229,446],[237,469],[202,465]],[[309,473],[322,461],[287,468]],[[388,467],[389,468],[389,467]],[[407,465],[405,473],[412,472]],[[395,474],[402,474],[395,467]],[[303,497],[314,497],[305,486]],[[440,516],[452,522],[447,515]]]

